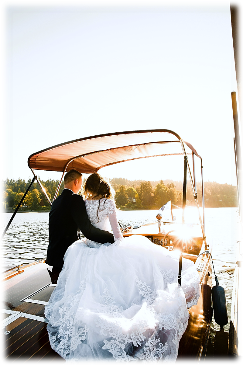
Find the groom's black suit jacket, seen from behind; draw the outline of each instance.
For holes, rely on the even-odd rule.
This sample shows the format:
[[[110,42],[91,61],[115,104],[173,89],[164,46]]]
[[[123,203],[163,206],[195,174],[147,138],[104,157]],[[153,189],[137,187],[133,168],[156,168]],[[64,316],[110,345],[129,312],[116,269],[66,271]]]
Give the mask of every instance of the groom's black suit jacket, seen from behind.
[[[54,200],[49,213],[49,245],[46,263],[62,268],[68,247],[79,239],[79,232],[99,243],[114,243],[113,234],[92,226],[82,196],[64,189]]]

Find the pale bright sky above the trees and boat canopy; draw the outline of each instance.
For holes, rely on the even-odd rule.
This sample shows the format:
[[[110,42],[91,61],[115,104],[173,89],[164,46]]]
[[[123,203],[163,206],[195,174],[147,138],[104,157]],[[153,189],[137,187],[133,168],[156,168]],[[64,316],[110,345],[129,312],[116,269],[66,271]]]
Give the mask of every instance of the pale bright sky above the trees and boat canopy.
[[[205,181],[236,185],[229,1],[4,1],[1,40],[2,178],[28,179],[29,155],[59,143],[165,128],[196,148]],[[100,173],[182,180],[183,159]]]

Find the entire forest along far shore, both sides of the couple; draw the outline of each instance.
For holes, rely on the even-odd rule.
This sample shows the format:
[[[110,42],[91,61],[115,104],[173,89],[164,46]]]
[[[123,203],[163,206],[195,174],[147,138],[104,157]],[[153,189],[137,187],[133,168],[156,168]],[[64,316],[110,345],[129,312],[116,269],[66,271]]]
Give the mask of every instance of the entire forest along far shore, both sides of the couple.
[[[50,200],[54,198],[59,180],[48,179],[40,180]],[[127,180],[126,178],[113,178],[110,180],[115,194],[117,207],[129,210],[136,209],[157,209],[166,204],[170,199],[172,204],[178,207],[182,206],[182,181],[160,180],[160,181],[144,181],[144,180]],[[31,183],[24,179],[1,181],[1,211],[14,209],[24,195],[24,192]],[[64,188],[62,181],[59,194]],[[201,183],[197,183],[197,197],[199,205],[202,204]],[[219,184],[215,181],[205,181],[204,183],[205,207],[238,207],[237,188],[234,185]],[[195,206],[190,181],[187,181],[187,205]],[[48,211],[50,205],[39,187],[34,182],[24,199],[20,208],[22,211]]]

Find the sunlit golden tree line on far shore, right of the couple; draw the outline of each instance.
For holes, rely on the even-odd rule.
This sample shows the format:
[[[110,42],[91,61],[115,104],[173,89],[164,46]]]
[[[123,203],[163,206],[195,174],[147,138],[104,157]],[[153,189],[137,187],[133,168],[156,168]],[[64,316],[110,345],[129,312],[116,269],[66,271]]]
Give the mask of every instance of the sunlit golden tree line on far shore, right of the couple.
[[[182,181],[160,180],[142,181],[113,178],[111,180],[116,191],[115,199],[118,207],[150,208],[162,207],[170,199],[172,204],[182,207]],[[202,205],[201,182],[196,184],[197,199]],[[134,198],[136,201],[134,201]],[[191,183],[187,181],[187,202],[195,206]],[[207,208],[238,207],[237,187],[229,184],[219,184],[215,181],[205,181],[204,201]]]

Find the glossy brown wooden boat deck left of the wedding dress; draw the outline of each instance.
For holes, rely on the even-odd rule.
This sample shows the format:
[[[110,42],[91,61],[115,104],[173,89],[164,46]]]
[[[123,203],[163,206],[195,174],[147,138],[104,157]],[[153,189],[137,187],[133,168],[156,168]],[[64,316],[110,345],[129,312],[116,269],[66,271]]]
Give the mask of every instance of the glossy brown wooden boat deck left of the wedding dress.
[[[23,268],[24,272],[1,283],[1,310],[35,315],[44,320],[44,305],[21,301],[50,285],[46,264]],[[31,300],[48,301],[54,286],[47,286],[31,296]],[[27,299],[28,300],[28,299]],[[11,313],[1,312],[1,322]],[[7,364],[64,364],[64,359],[51,349],[47,323],[16,315],[6,325],[9,335],[1,333],[1,357]]]

